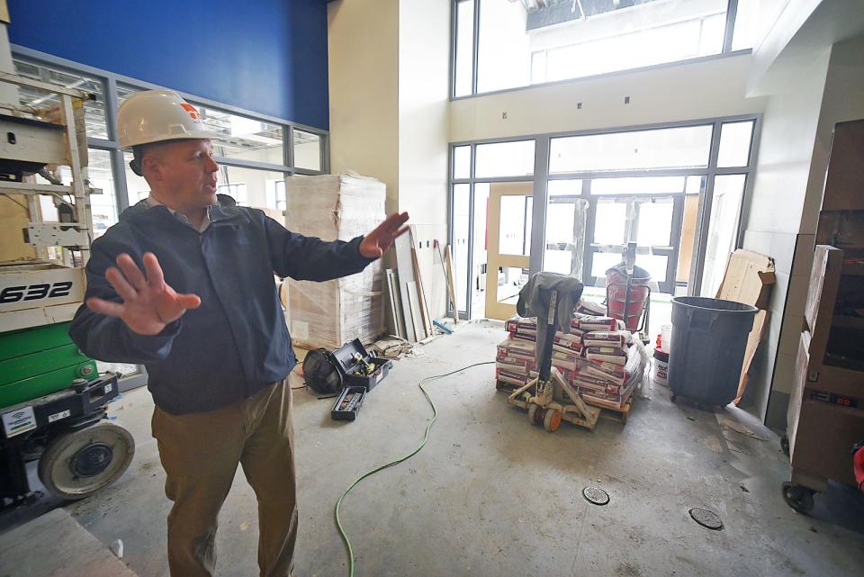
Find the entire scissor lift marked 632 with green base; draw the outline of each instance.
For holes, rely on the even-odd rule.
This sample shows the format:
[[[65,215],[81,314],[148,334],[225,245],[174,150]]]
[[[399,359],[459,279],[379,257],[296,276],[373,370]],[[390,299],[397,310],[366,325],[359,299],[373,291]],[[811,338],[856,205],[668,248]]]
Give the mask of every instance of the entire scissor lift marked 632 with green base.
[[[48,491],[81,499],[129,467],[135,444],[126,429],[105,419],[106,403],[119,394],[119,375],[100,375],[95,361],[68,336],[85,290],[83,265],[93,231],[89,194],[101,192],[86,178],[84,102],[90,95],[3,72],[0,81],[53,93],[59,102],[44,116],[32,106],[0,103],[5,135],[0,194],[27,199],[31,221],[23,223],[23,238],[36,255],[0,263],[0,509],[5,509],[40,497],[31,491],[28,461],[39,461]],[[61,166],[71,174],[68,185]],[[31,177],[37,172],[51,184],[37,183]],[[46,194],[66,220],[41,220],[38,199]]]

